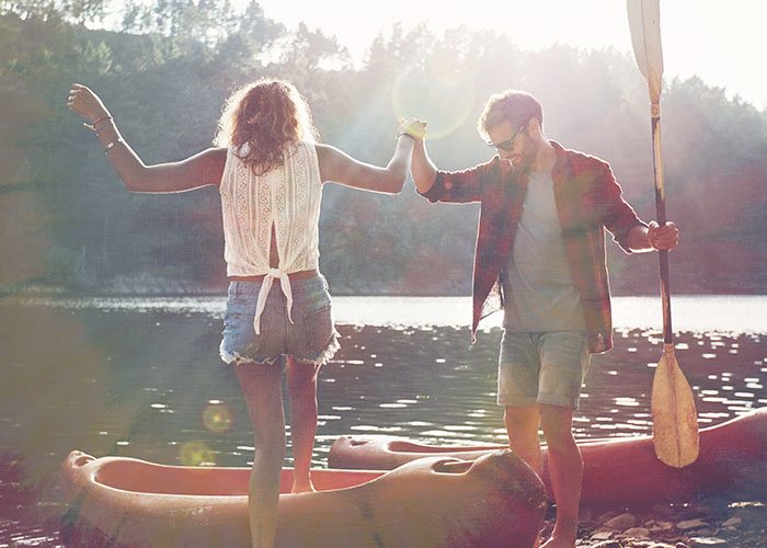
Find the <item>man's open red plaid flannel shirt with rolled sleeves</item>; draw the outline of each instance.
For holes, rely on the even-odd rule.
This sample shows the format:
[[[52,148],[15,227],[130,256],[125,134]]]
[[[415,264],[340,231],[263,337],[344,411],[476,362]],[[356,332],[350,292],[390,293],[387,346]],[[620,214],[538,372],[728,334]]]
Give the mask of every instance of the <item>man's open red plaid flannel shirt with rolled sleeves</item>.
[[[630,253],[628,233],[638,225],[646,225],[622,198],[607,162],[550,142],[557,151],[551,171],[554,201],[573,282],[585,312],[588,350],[606,352],[613,347],[613,319],[604,229]],[[481,204],[474,251],[472,341],[480,320],[503,306],[500,276],[514,244],[527,181],[526,173],[495,156],[468,170],[438,171],[434,185],[423,194],[430,202]]]

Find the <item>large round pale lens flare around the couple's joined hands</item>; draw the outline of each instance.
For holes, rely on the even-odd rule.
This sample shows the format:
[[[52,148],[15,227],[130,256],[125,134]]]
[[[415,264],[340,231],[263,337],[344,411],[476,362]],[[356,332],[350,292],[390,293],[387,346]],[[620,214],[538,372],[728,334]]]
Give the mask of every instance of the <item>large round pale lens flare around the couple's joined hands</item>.
[[[427,122],[427,138],[439,139],[466,122],[474,95],[470,73],[458,72],[447,62],[435,62],[427,71],[403,75],[394,81],[392,110],[398,119]]]

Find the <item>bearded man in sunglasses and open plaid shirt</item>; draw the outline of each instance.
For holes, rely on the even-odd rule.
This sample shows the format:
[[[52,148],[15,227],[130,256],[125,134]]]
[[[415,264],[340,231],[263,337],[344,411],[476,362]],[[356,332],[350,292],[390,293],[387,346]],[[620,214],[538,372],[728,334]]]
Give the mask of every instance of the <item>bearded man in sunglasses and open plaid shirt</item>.
[[[497,155],[457,172],[438,171],[428,158],[425,124],[407,129],[416,141],[419,193],[481,204],[472,341],[480,319],[503,307],[497,403],[510,447],[539,475],[543,431],[557,522],[542,546],[553,548],[575,545],[583,460],[572,416],[589,355],[613,346],[604,229],[628,253],[671,250],[678,230],[642,222],[607,162],[547,140],[542,128],[533,95],[492,95],[478,129]]]

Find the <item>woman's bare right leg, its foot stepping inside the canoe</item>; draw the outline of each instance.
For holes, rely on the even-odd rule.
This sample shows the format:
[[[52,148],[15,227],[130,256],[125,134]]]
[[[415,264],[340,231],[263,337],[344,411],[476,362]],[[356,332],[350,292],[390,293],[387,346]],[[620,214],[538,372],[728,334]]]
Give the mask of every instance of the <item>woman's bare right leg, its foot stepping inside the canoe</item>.
[[[290,393],[290,439],[295,472],[293,492],[313,491],[309,468],[317,435],[317,374],[319,365],[288,358],[287,381]]]

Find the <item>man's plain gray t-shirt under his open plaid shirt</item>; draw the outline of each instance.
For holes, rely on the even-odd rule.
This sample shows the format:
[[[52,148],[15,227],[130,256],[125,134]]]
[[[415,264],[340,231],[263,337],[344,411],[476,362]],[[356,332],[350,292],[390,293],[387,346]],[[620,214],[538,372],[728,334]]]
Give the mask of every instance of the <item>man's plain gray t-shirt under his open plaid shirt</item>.
[[[503,289],[507,331],[586,329],[564,251],[550,171],[530,173],[514,248],[503,272]]]

